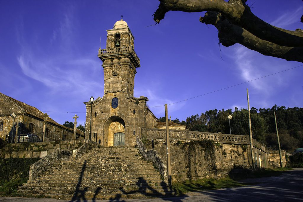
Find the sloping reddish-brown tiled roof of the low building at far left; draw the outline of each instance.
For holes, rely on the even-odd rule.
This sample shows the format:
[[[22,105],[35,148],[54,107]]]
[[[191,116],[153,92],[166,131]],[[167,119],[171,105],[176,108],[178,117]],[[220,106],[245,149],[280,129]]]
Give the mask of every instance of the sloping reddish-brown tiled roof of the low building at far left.
[[[5,97],[8,100],[14,102],[16,105],[18,105],[20,108],[22,108],[24,110],[24,113],[30,114],[32,116],[35,116],[37,118],[41,118],[42,120],[44,120],[44,113],[42,111],[38,110],[37,108],[35,108],[33,106],[30,106],[28,104],[25,104],[24,102],[18,101],[14,98],[11,98],[11,97],[9,97],[9,96],[1,93],[1,92],[0,92],[0,95],[2,95],[3,97]],[[55,124],[57,126],[63,127],[65,129],[72,130],[72,128],[65,127],[64,125],[58,124],[56,121],[54,121],[50,117],[47,118],[47,121],[52,123],[52,124]]]

